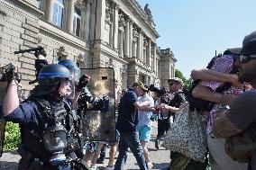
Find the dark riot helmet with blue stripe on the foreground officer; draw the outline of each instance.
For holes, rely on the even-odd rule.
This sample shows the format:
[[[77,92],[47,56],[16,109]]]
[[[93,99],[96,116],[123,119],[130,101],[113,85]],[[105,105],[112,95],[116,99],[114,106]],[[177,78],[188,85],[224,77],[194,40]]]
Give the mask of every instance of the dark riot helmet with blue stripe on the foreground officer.
[[[61,83],[66,82],[69,85],[69,88],[67,89],[67,94],[61,94],[66,95],[69,98],[75,97],[75,85],[74,80],[70,76],[69,69],[67,67],[64,67],[59,64],[52,64],[47,65],[43,68],[41,68],[41,71],[38,76],[38,83],[41,86],[44,87],[50,87],[54,88],[57,87],[59,89],[59,86]],[[55,89],[57,90],[57,89]]]

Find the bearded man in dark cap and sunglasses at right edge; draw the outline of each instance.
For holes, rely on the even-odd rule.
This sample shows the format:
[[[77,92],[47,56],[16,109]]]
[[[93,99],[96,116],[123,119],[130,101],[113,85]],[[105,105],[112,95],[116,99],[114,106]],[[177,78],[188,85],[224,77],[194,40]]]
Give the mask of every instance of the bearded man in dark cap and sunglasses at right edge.
[[[236,65],[239,67],[239,80],[256,87],[256,31],[245,36],[242,48],[233,49],[239,55]],[[215,138],[227,138],[245,131],[251,139],[256,138],[256,91],[239,95],[230,105],[230,110],[219,112],[214,122]],[[248,169],[256,169],[256,151],[251,154]]]

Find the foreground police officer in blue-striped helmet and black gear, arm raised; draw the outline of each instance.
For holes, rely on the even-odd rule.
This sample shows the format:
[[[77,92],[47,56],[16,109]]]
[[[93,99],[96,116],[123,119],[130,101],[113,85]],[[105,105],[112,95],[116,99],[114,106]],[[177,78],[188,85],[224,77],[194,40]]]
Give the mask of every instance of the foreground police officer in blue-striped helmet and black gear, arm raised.
[[[9,83],[3,112],[7,121],[18,122],[23,127],[20,170],[72,169],[68,162],[76,157],[73,151],[77,149],[77,133],[70,105],[71,99],[76,98],[77,77],[70,73],[61,65],[43,67],[38,76],[39,85],[21,104],[15,78]],[[82,76],[78,88],[86,85],[87,76]]]

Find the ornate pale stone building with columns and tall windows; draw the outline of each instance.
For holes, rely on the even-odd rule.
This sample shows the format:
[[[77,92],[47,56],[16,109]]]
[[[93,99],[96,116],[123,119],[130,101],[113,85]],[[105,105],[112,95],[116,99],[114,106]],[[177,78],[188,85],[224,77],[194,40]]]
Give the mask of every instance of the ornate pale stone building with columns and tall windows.
[[[49,63],[73,59],[79,67],[113,67],[116,91],[134,81],[167,86],[177,61],[160,49],[148,4],[136,0],[0,0],[0,67],[18,67],[23,87],[35,78],[32,53],[44,47]]]

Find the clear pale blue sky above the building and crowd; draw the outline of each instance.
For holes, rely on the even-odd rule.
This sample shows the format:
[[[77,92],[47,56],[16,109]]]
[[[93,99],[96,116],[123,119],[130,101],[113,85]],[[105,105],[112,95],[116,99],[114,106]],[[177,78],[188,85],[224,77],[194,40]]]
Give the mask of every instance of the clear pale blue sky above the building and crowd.
[[[256,0],[138,0],[151,9],[160,49],[170,48],[176,68],[189,77],[217,53],[242,46],[256,30]]]

